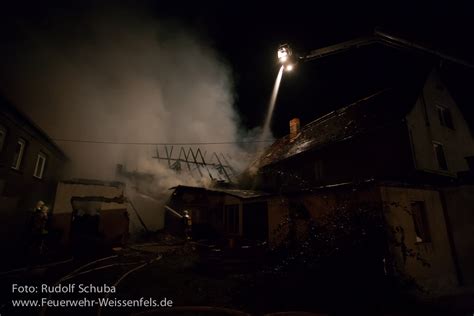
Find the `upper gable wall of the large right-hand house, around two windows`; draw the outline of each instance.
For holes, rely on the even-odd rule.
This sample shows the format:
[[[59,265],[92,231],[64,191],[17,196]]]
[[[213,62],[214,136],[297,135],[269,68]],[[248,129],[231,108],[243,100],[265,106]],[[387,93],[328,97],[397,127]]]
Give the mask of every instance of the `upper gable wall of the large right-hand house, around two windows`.
[[[437,106],[449,109],[454,129],[443,126]],[[413,160],[418,170],[448,176],[468,170],[464,159],[474,155],[474,139],[460,109],[433,70],[412,111],[406,117],[413,144]],[[433,141],[443,144],[448,170],[438,167]]]

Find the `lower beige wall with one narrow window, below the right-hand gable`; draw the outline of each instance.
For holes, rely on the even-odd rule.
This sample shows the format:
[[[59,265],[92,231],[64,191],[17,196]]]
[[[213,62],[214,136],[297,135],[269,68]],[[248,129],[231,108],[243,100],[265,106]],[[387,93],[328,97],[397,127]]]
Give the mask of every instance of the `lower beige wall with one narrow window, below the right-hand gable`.
[[[434,295],[447,293],[457,287],[456,270],[439,191],[381,186],[380,192],[389,228],[403,228],[403,234],[395,234],[396,240],[401,241],[403,238],[406,247],[414,254],[419,254],[420,258],[430,265],[423,266],[420,260],[410,256],[404,260],[400,247],[395,247],[392,248],[392,255],[398,269],[413,277],[422,288]],[[415,201],[425,203],[427,225],[431,235],[430,242],[417,243],[416,241],[411,209],[411,204]]]

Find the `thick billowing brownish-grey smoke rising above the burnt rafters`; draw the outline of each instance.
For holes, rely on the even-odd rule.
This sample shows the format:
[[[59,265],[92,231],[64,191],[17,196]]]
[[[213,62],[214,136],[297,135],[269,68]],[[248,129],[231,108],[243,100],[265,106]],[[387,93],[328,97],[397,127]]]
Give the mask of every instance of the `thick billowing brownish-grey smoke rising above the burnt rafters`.
[[[230,68],[207,40],[179,23],[115,9],[47,25],[23,29],[3,80],[7,96],[52,138],[212,143],[246,134],[233,108]],[[114,180],[123,164],[153,174],[138,186],[162,202],[172,186],[206,185],[206,177],[177,175],[153,159],[155,146],[58,144],[71,159],[67,178]],[[237,144],[201,149],[225,153],[236,168],[248,156]],[[137,183],[127,186],[136,196]]]

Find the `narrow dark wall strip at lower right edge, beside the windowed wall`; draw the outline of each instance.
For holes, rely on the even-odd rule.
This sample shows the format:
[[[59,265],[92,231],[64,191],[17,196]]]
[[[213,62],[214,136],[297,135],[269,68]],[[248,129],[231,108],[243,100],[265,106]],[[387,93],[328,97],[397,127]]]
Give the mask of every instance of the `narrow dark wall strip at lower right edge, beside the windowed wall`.
[[[460,281],[474,285],[474,186],[463,185],[443,190],[447,225],[451,230]]]

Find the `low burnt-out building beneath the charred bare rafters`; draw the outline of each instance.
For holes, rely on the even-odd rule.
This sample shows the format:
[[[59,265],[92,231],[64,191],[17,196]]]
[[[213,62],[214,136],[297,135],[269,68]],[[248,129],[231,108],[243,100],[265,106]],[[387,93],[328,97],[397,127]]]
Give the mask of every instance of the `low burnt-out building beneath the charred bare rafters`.
[[[287,215],[286,199],[277,194],[231,188],[177,186],[166,205],[165,227],[182,232],[190,213],[195,239],[276,242],[274,231]]]

